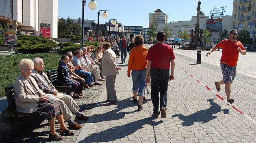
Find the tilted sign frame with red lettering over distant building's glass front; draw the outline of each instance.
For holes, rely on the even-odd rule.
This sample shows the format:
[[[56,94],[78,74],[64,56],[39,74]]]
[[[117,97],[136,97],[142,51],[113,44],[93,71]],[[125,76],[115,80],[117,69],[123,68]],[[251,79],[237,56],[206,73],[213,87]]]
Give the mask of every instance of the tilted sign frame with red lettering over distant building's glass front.
[[[226,12],[227,6],[210,9],[209,19],[206,21],[206,28],[211,31],[221,31],[222,30],[222,18]]]

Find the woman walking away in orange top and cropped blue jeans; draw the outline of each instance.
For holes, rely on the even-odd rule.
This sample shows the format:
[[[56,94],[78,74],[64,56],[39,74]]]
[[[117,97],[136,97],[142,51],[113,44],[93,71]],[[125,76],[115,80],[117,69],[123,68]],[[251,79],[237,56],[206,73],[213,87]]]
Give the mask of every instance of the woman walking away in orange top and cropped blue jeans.
[[[148,54],[148,49],[143,46],[144,39],[141,35],[137,35],[135,39],[132,39],[135,40],[135,47],[130,52],[127,76],[130,77],[130,71],[132,70],[132,99],[134,103],[137,103],[137,95],[139,96],[138,111],[141,111],[143,109],[142,101],[146,86],[146,71],[148,64],[146,56]]]

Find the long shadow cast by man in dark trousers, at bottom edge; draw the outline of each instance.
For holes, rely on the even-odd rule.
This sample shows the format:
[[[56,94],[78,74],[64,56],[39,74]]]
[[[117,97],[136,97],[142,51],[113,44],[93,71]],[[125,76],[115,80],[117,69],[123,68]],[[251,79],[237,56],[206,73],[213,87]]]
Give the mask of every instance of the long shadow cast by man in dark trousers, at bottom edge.
[[[109,128],[107,130],[103,130],[102,132],[95,132],[85,139],[83,141],[80,141],[78,143],[83,143],[84,141],[91,141],[91,142],[108,142],[108,141],[114,141],[116,139],[121,139],[124,137],[127,137],[128,135],[133,134],[137,130],[143,128],[143,125],[150,124],[151,126],[157,126],[158,124],[163,123],[163,120],[161,121],[152,121],[153,117],[148,117],[142,120],[137,120],[134,122],[130,122],[128,124],[124,124],[122,126],[115,126],[112,128]],[[110,137],[112,136],[112,137]]]

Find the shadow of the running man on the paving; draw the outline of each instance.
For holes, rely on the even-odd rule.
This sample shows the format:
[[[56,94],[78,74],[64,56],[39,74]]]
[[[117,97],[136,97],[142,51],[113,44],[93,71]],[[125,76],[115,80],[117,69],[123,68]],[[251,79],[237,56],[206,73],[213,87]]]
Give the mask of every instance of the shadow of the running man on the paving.
[[[224,114],[229,114],[229,109],[221,109],[221,107],[213,102],[214,99],[208,99],[207,101],[210,102],[210,108],[205,109],[205,110],[201,110],[201,111],[197,111],[191,115],[188,116],[184,116],[182,114],[175,114],[173,116],[171,116],[172,118],[178,116],[178,118],[184,122],[182,122],[182,126],[191,126],[194,124],[194,122],[202,122],[207,123],[210,120],[214,120],[215,118],[217,118],[217,116],[213,116],[213,114],[217,114],[218,112],[223,111]]]

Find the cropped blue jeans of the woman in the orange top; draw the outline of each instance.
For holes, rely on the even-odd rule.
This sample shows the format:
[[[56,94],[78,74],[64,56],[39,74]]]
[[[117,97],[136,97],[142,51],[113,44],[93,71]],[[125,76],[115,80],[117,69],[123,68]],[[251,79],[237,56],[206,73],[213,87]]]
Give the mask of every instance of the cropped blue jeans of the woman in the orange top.
[[[132,92],[138,93],[139,96],[144,95],[146,86],[146,72],[147,69],[132,70]]]

